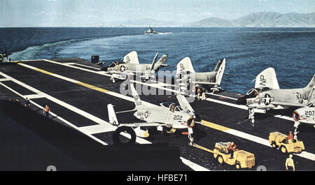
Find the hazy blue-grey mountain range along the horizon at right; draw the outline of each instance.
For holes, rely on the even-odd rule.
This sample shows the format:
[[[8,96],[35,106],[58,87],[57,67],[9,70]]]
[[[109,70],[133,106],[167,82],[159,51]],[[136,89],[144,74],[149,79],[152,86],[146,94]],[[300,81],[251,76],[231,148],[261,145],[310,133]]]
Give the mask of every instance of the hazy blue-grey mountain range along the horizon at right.
[[[315,13],[251,13],[235,20],[208,17],[197,22],[175,22],[153,19],[110,22],[115,27],[315,27]],[[104,25],[106,26],[106,25]]]

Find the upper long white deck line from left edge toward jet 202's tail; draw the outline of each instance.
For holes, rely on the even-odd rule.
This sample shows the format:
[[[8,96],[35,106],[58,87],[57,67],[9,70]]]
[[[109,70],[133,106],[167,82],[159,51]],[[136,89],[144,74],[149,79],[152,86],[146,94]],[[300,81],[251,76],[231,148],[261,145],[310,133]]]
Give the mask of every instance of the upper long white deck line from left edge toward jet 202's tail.
[[[13,82],[15,82],[16,84],[20,84],[22,87],[25,87],[25,88],[27,88],[27,89],[29,89],[29,90],[31,90],[31,91],[36,91],[37,94],[41,94],[41,95],[44,96],[45,98],[48,98],[48,100],[53,101],[53,102],[55,102],[55,103],[57,103],[57,104],[59,104],[59,105],[62,105],[64,108],[67,108],[67,109],[69,109],[69,110],[71,110],[71,111],[73,111],[73,112],[76,112],[77,114],[80,114],[80,115],[82,115],[83,117],[85,117],[85,118],[87,118],[87,119],[90,119],[90,120],[96,122],[97,124],[103,124],[104,126],[108,126],[108,127],[109,127],[109,128],[107,129],[108,131],[109,131],[109,130],[115,131],[116,128],[117,128],[117,126],[113,126],[112,124],[110,124],[110,123],[107,122],[107,121],[104,121],[103,119],[99,119],[98,117],[95,117],[95,116],[93,116],[92,114],[89,114],[89,113],[87,113],[87,112],[85,112],[85,111],[83,111],[83,110],[80,110],[80,109],[78,109],[78,108],[72,106],[72,105],[69,105],[68,103],[65,103],[65,102],[63,102],[63,101],[60,101],[60,100],[57,99],[57,98],[54,98],[54,97],[52,97],[52,96],[50,96],[50,95],[48,95],[48,94],[45,94],[45,93],[43,93],[43,92],[41,92],[41,91],[38,91],[37,89],[35,89],[35,88],[33,88],[33,87],[30,87],[29,85],[27,85],[27,84],[25,84],[25,83],[23,83],[23,82],[20,82],[20,81],[18,81],[18,80],[15,80],[13,77],[10,77],[10,76],[8,76],[8,75],[6,75],[6,74],[4,74],[4,73],[1,73],[1,72],[0,72],[0,74],[3,75],[3,76],[6,76],[6,77],[8,77],[8,78],[10,78],[10,80],[12,80]],[[59,77],[59,75],[57,75],[57,76]],[[73,81],[73,80],[71,80],[71,81]],[[23,96],[23,97],[26,98],[26,96]],[[77,127],[77,130],[80,131],[80,128]],[[123,133],[123,135],[124,135],[124,136],[127,136],[127,137],[129,136],[129,135],[125,134],[125,133]],[[147,140],[144,140],[144,139],[142,139],[142,138],[137,138],[137,139],[136,139],[136,142],[139,142],[140,144],[151,144],[151,142],[148,142]]]

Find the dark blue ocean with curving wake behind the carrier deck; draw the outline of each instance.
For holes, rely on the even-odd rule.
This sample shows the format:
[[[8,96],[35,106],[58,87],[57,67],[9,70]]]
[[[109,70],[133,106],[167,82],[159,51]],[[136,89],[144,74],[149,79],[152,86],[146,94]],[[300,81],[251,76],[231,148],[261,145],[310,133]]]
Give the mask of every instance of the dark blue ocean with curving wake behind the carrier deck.
[[[10,58],[80,57],[120,60],[133,50],[140,63],[151,63],[156,52],[169,54],[169,67],[190,57],[195,71],[212,71],[218,59],[226,66],[221,86],[245,94],[255,76],[273,67],[281,89],[306,86],[315,73],[315,28],[0,28],[0,47]]]

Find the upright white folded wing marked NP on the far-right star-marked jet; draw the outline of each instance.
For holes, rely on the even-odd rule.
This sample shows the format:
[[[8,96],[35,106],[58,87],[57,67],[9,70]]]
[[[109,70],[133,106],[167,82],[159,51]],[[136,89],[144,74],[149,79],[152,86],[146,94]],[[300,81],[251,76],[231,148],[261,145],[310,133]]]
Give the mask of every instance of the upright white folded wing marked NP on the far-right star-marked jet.
[[[266,68],[259,73],[255,79],[255,88],[269,87],[270,89],[280,89],[274,68]]]

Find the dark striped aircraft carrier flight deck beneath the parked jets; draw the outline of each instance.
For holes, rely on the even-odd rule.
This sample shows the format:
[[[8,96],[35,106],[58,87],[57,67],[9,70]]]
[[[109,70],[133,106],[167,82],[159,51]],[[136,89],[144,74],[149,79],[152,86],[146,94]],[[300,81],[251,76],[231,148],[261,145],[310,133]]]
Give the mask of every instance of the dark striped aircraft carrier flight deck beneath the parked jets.
[[[116,147],[116,126],[109,124],[107,105],[111,103],[116,112],[132,110],[134,99],[120,94],[121,82],[113,83],[110,78],[100,66],[83,59],[1,64],[0,107],[1,117],[6,119],[0,129],[0,158],[6,163],[1,162],[0,168],[41,170],[45,165],[55,165],[59,170],[237,170],[234,165],[219,164],[212,153],[216,142],[233,141],[238,149],[255,155],[255,166],[241,170],[262,166],[286,170],[288,154],[272,148],[268,137],[272,132],[288,134],[294,130],[293,109],[257,114],[255,126],[251,126],[246,106],[235,103],[241,95],[226,91],[207,93],[206,100],[190,103],[203,123],[194,126],[195,145],[188,145],[187,135],[179,130],[162,134],[149,128],[150,136],[137,138],[133,147]],[[170,84],[157,83],[154,87],[175,94]],[[31,101],[29,109],[24,106],[25,98]],[[153,106],[178,103],[176,96],[170,95],[140,98]],[[43,115],[45,105],[51,110],[49,120]],[[116,115],[120,123],[139,122],[134,112]],[[315,128],[301,124],[298,131],[305,150],[293,154],[295,170],[315,170]],[[16,161],[22,156],[24,161]],[[22,166],[25,161],[29,166]]]

